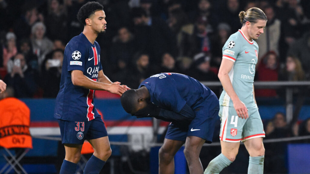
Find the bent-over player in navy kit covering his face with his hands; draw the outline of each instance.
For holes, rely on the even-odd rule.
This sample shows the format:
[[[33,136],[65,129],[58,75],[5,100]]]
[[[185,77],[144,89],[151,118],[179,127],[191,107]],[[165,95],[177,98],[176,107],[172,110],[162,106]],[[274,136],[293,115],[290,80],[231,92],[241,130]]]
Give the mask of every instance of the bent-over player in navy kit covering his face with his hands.
[[[138,118],[171,121],[159,150],[160,174],[174,173],[174,156],[184,143],[189,172],[203,173],[199,154],[205,142],[212,142],[219,114],[219,100],[208,87],[183,74],[160,73],[126,91],[121,103]]]

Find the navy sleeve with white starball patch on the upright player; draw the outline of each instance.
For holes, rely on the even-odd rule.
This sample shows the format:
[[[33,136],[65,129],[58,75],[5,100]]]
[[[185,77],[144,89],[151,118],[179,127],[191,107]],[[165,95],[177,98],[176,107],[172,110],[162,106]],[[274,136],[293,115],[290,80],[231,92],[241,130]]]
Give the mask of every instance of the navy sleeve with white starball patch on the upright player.
[[[85,71],[86,59],[88,51],[86,46],[81,43],[67,45],[65,55],[68,63],[68,71],[80,70]]]

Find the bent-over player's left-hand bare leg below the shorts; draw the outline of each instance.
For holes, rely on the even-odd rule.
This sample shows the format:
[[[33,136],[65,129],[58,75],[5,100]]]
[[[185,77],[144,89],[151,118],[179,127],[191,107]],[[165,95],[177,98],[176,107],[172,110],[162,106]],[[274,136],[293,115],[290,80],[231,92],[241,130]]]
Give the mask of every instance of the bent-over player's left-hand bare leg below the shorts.
[[[164,144],[159,149],[159,174],[174,174],[174,156],[184,144],[184,141],[164,140]]]

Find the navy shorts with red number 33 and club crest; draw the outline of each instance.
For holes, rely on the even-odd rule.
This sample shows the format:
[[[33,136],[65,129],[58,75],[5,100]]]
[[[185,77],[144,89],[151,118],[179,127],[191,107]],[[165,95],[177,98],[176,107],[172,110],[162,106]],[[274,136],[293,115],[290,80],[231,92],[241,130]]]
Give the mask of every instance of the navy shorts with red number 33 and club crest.
[[[83,144],[84,140],[108,136],[101,117],[87,122],[58,120],[63,144]]]

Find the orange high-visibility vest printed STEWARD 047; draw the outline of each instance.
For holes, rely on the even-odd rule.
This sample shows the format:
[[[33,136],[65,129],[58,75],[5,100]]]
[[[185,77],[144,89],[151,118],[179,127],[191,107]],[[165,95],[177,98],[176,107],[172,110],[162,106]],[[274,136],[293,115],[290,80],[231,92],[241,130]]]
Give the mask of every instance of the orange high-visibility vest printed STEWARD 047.
[[[0,146],[31,148],[29,107],[17,98],[0,100]]]

